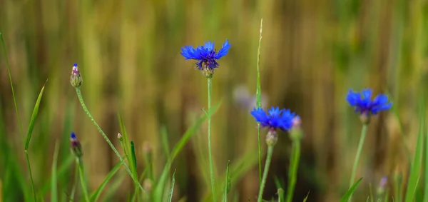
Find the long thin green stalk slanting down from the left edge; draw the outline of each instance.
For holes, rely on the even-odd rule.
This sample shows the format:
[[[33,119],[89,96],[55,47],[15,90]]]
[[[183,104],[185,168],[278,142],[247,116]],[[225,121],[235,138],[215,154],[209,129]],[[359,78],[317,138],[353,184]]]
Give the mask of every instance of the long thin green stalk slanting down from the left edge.
[[[11,76],[11,68],[9,66],[9,59],[8,59],[8,56],[7,56],[6,46],[4,45],[3,34],[1,34],[1,31],[0,31],[0,39],[1,39],[1,44],[3,46],[3,50],[4,50],[4,59],[6,60],[6,69],[7,69],[7,73],[9,74],[9,82],[11,83],[12,97],[14,98],[15,112],[16,112],[16,117],[18,118],[19,131],[21,132],[22,143],[25,146],[24,132],[22,131],[21,118],[19,118],[18,105],[16,104],[14,83],[12,82],[12,76]],[[31,188],[33,190],[34,201],[37,201],[36,191],[35,191],[35,188],[34,188],[33,175],[31,174],[31,166],[30,166],[30,161],[29,161],[29,154],[27,153],[26,150],[25,150],[25,156],[26,156],[26,160],[27,160],[26,161],[27,162],[27,167],[29,168],[30,179],[31,179]]]

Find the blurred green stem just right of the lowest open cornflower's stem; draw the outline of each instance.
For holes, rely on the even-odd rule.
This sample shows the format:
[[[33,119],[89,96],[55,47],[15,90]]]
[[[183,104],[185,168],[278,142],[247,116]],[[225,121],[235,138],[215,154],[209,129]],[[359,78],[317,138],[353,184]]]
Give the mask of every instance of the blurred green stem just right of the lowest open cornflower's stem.
[[[290,168],[288,170],[288,188],[286,202],[292,201],[292,195],[296,186],[297,167],[299,166],[300,159],[300,139],[292,141],[292,151],[290,158]]]

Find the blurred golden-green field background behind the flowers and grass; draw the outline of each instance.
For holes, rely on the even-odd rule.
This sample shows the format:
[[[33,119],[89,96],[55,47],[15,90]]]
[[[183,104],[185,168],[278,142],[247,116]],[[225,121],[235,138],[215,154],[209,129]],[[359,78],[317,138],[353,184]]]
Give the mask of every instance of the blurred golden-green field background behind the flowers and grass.
[[[357,172],[364,179],[354,198],[365,201],[370,186],[376,192],[384,176],[392,195],[393,178],[407,177],[418,103],[427,86],[428,4],[423,0],[2,0],[0,30],[24,134],[49,80],[29,147],[36,189],[49,201],[58,143],[58,193],[66,197],[73,181],[71,131],[83,145],[91,190],[118,162],[78,103],[69,81],[73,63],[101,128],[120,147],[121,113],[136,143],[139,173],[144,153],[151,152],[158,175],[165,163],[162,134],[174,146],[207,106],[206,79],[194,61],[180,56],[180,48],[210,40],[220,49],[229,39],[229,54],[218,61],[213,77],[213,104],[222,101],[213,116],[217,182],[222,183],[230,160],[239,173],[230,198],[254,201],[257,129],[250,110],[262,17],[263,106],[291,108],[305,131],[294,201],[307,193],[308,201],[339,201],[347,190],[361,123],[345,97],[350,89],[365,88],[388,94],[394,106],[372,118]],[[0,201],[31,201],[22,196],[31,186],[3,50],[0,58]],[[206,131],[205,122],[173,164],[175,201],[204,201],[210,193]],[[289,156],[290,140],[280,133],[265,198],[276,197],[275,177],[287,181]],[[104,201],[124,200],[133,191],[122,170],[108,184],[116,191],[104,193]]]

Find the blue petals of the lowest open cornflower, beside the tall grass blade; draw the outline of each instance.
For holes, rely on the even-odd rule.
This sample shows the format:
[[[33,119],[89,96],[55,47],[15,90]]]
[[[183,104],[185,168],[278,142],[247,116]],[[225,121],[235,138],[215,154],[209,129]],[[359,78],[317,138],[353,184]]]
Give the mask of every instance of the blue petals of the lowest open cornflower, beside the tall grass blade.
[[[261,126],[269,127],[272,130],[280,128],[282,131],[288,131],[292,128],[293,121],[299,119],[299,116],[292,113],[290,109],[283,108],[280,110],[279,107],[272,106],[267,112],[269,114],[262,108],[254,108],[251,115],[254,116],[255,121],[260,122]]]

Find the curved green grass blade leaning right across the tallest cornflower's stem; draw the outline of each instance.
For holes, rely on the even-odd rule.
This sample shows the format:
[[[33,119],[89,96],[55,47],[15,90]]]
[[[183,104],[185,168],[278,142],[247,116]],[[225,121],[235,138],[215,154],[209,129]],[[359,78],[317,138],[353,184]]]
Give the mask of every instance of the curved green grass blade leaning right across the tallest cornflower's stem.
[[[166,162],[165,167],[163,168],[161,177],[156,182],[155,187],[153,188],[153,201],[163,201],[163,189],[165,187],[168,172],[170,171],[171,164],[173,163],[175,157],[178,155],[178,153],[180,153],[180,151],[184,148],[185,144],[195,134],[198,128],[202,125],[202,123],[208,118],[208,116],[212,116],[213,113],[218,110],[220,104],[221,101],[217,105],[213,106],[213,108],[210,108],[210,111],[208,111],[208,113],[204,113],[203,116],[198,118],[198,120],[193,123],[193,126],[191,126],[190,128],[188,128],[187,131],[185,131],[183,137],[180,138],[178,143],[175,144],[173,150],[171,151],[170,158],[168,158],[168,161]]]

